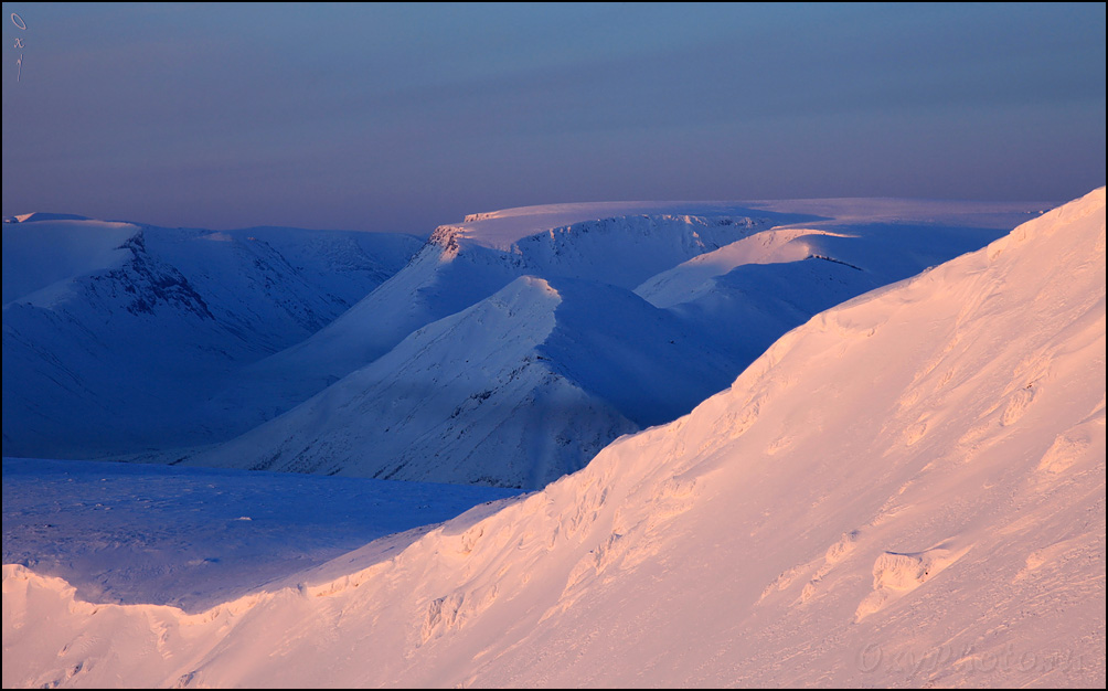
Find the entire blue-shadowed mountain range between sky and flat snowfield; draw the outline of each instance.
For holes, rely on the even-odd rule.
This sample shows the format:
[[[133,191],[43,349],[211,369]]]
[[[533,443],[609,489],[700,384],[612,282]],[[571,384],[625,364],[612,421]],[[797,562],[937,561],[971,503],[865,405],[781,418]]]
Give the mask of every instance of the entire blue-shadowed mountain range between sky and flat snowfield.
[[[4,226],[4,454],[537,488],[1033,210],[553,205],[421,248],[32,215]]]

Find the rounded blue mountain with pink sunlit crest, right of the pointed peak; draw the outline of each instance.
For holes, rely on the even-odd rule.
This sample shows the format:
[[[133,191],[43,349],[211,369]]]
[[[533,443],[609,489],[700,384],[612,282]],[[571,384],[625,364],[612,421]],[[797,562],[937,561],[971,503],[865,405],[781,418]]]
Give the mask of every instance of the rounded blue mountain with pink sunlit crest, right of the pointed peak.
[[[968,214],[927,223],[914,220],[909,209],[902,214],[872,219],[854,212],[815,228],[756,233],[659,274],[636,292],[680,316],[690,331],[727,344],[746,367],[812,314],[1003,235],[964,225],[979,221]]]

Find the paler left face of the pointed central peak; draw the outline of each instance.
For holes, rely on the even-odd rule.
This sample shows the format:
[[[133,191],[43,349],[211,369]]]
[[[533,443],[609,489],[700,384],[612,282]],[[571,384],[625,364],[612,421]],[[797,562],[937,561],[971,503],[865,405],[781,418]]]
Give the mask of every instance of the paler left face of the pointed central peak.
[[[582,463],[572,463],[573,456],[537,450],[557,448],[558,431],[547,426],[612,426],[615,433],[594,441],[588,457],[635,427],[537,358],[535,347],[554,328],[560,302],[546,281],[517,279],[417,331],[288,414],[188,463],[507,486],[533,486],[576,470]],[[572,416],[544,424],[543,399],[561,401]],[[533,458],[530,446],[536,447]],[[505,458],[514,463],[504,467]]]

